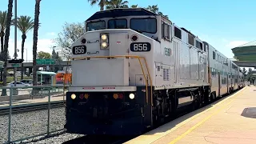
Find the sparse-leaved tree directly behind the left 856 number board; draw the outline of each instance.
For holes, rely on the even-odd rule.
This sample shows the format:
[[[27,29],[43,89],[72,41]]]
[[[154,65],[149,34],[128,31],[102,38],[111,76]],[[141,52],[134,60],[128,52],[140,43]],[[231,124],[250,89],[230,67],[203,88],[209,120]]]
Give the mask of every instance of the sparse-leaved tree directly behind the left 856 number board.
[[[62,32],[58,34],[58,38],[54,41],[58,47],[62,48],[64,58],[69,59],[71,53],[71,44],[84,34],[84,26],[82,23],[65,23]],[[63,59],[64,59],[63,58]]]

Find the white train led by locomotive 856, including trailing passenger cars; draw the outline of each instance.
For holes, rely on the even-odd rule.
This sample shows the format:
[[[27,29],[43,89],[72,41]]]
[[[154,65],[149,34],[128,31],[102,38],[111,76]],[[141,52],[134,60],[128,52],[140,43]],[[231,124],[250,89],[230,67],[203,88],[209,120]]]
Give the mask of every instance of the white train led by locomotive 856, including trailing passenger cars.
[[[145,9],[96,12],[71,49],[69,133],[142,134],[244,86],[234,62]]]

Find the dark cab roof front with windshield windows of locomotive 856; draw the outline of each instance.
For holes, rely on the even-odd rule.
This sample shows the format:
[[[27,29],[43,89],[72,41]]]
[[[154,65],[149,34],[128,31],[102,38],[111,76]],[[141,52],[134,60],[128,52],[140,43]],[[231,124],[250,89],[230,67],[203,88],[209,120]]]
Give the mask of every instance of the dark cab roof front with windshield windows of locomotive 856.
[[[86,31],[132,29],[139,33],[147,33],[147,35],[155,34],[157,32],[157,19],[155,18],[157,15],[142,8],[98,11],[86,20]],[[98,21],[95,22],[95,20]]]

